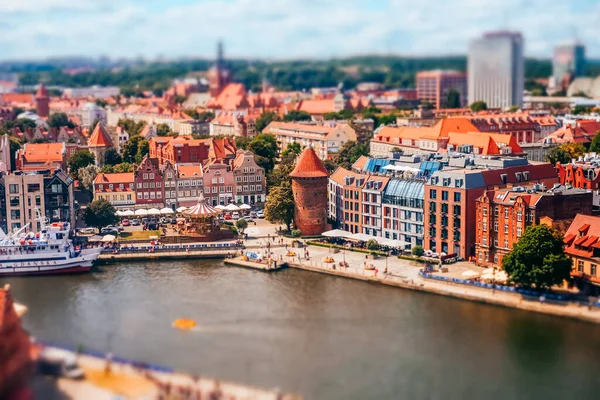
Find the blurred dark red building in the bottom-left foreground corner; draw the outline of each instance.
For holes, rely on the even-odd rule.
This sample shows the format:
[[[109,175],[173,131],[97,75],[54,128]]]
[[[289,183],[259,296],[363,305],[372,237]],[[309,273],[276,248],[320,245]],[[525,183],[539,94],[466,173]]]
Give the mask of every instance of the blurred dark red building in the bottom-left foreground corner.
[[[21,326],[10,293],[0,289],[0,398],[23,388],[32,372],[29,336]]]

